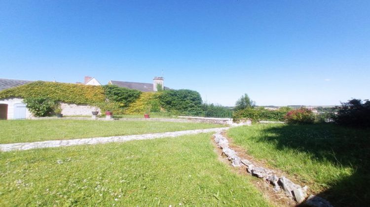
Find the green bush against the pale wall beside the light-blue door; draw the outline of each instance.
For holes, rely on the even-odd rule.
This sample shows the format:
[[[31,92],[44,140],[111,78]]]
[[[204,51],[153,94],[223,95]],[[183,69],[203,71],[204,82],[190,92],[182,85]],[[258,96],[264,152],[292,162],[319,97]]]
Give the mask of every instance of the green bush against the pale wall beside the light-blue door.
[[[24,103],[37,117],[48,116],[55,108],[55,101],[46,97],[25,98]]]

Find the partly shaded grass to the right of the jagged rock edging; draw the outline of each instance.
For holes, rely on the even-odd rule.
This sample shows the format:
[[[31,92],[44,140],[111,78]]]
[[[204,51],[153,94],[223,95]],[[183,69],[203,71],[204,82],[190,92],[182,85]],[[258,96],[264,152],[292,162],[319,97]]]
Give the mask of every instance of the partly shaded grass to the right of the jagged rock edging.
[[[257,124],[230,129],[227,135],[334,206],[366,206],[370,201],[370,130],[333,124]]]

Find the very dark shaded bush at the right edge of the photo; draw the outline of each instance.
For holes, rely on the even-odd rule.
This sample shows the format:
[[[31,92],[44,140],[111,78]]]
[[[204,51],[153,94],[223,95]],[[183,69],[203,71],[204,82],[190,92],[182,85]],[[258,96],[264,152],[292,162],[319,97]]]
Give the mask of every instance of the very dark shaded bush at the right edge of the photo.
[[[352,99],[347,103],[341,103],[334,121],[343,126],[370,127],[370,101],[361,99]]]

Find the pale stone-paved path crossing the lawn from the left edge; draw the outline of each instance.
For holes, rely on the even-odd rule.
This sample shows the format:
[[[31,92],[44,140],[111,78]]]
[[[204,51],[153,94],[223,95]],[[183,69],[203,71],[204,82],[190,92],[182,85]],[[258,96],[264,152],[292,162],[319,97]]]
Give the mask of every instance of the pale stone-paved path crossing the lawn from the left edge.
[[[60,146],[73,146],[82,144],[101,144],[109,142],[123,142],[131,140],[141,139],[153,139],[153,138],[174,138],[183,135],[195,135],[199,133],[209,132],[220,132],[227,130],[228,127],[223,128],[212,128],[202,130],[186,130],[178,132],[164,132],[155,134],[144,134],[144,135],[127,135],[127,136],[114,136],[114,137],[99,137],[99,138],[78,138],[78,139],[65,139],[65,140],[48,140],[48,141],[37,141],[37,142],[23,142],[23,143],[11,143],[11,144],[0,144],[0,151],[12,151],[12,150],[28,150],[35,148],[47,148],[47,147],[60,147]]]

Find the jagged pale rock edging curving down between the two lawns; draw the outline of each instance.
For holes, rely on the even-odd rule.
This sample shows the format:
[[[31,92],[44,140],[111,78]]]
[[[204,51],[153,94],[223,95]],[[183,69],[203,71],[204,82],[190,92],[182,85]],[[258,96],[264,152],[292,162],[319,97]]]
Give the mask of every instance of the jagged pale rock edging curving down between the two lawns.
[[[272,170],[259,167],[247,159],[241,159],[237,155],[237,152],[229,147],[227,138],[223,136],[224,133],[224,131],[221,131],[214,134],[214,140],[218,147],[222,149],[222,154],[227,157],[233,167],[247,167],[247,172],[252,176],[256,176],[267,181],[273,186],[273,190],[275,192],[283,191],[284,194],[295,200],[298,204],[302,203],[306,199],[307,186],[301,187],[285,176],[279,177]],[[333,207],[325,199],[313,195],[308,197],[305,204],[312,207]]]

